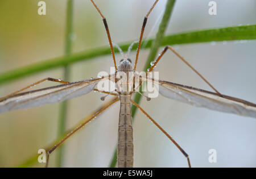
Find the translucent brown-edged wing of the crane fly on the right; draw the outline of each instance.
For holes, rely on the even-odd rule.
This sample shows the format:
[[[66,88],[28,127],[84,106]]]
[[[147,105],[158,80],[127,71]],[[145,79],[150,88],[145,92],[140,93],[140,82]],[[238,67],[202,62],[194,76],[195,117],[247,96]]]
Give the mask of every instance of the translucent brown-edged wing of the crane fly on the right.
[[[227,95],[220,97],[217,93],[168,81],[148,80],[152,81],[156,86],[159,86],[159,93],[164,97],[189,103],[193,106],[256,118],[256,105],[254,103]]]

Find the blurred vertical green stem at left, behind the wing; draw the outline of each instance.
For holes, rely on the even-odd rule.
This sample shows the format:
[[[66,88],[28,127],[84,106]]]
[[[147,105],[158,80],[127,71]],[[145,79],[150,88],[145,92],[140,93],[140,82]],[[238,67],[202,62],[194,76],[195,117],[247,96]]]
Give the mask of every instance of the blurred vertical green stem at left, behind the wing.
[[[71,55],[72,50],[72,19],[73,19],[73,0],[67,1],[67,23],[66,23],[66,34],[65,34],[65,55]],[[69,65],[64,66],[64,81],[69,81],[70,67]],[[65,127],[67,123],[67,110],[68,101],[60,103],[59,111],[59,128],[58,128],[58,138],[63,136],[65,133]],[[57,153],[56,166],[61,167],[63,165],[64,159],[64,145],[61,145]]]

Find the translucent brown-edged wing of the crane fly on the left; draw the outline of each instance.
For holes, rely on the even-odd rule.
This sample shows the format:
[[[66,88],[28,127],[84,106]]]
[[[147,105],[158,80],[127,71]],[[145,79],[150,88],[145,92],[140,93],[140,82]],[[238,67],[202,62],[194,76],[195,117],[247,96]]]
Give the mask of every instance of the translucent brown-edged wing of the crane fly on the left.
[[[29,107],[42,106],[48,103],[61,102],[66,99],[75,98],[92,91],[94,86],[101,80],[106,80],[106,78],[94,78],[92,80],[72,82],[69,84],[19,93],[7,98],[4,97],[0,99],[0,113],[17,109],[27,109]]]

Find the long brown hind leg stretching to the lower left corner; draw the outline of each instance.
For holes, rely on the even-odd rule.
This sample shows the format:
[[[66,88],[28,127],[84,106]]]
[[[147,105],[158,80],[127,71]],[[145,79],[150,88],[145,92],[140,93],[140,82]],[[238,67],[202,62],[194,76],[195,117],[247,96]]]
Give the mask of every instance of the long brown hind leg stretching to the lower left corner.
[[[119,101],[118,98],[114,98],[112,101],[110,101],[108,104],[106,104],[105,106],[102,106],[95,114],[93,114],[92,116],[90,116],[90,118],[88,120],[86,120],[84,123],[81,123],[78,127],[74,128],[71,132],[68,133],[67,136],[65,136],[63,139],[61,139],[57,144],[55,144],[53,147],[51,147],[48,151],[47,151],[47,161],[46,161],[46,167],[48,167],[49,164],[49,155],[55,151],[55,149],[57,147],[59,147],[65,140],[67,140],[71,135],[75,134],[76,131],[79,131],[82,127],[85,126],[85,124],[87,124],[88,122],[90,122],[92,119],[94,119],[96,116],[98,116],[99,114],[101,114],[103,111],[105,111],[106,109],[108,109],[108,107],[112,106],[115,102]]]

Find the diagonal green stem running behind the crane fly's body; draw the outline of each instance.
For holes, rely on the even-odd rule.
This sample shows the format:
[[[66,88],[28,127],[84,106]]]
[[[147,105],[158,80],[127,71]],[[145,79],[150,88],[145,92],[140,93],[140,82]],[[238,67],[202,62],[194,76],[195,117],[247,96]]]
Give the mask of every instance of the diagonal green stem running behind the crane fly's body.
[[[164,15],[162,18],[162,21],[158,28],[158,33],[156,34],[156,38],[154,41],[152,41],[151,49],[150,49],[150,55],[148,55],[146,64],[144,65],[144,72],[147,72],[147,69],[151,67],[150,62],[155,59],[156,53],[158,52],[158,49],[160,47],[160,44],[162,43],[164,32],[166,31],[168,22],[170,21],[172,10],[174,8],[175,0],[168,0],[166,3],[166,9],[164,11]],[[142,93],[142,91],[141,91]],[[142,95],[139,93],[135,94],[134,102],[139,104],[141,101]],[[137,111],[137,107],[132,105],[131,106],[131,114],[134,120],[135,114]],[[117,164],[117,147],[115,147],[114,155],[112,157],[110,167],[115,167]]]

